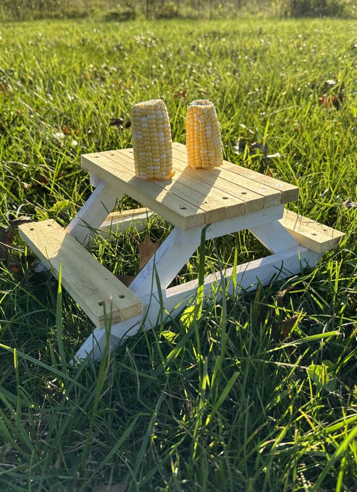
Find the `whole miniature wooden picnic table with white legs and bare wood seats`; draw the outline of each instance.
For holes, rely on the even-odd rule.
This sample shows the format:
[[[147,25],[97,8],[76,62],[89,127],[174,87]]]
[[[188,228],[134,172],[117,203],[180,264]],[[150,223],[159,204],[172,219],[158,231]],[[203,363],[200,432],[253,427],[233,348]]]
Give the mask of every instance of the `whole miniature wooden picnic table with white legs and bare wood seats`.
[[[186,147],[180,143],[173,144],[173,156],[172,179],[144,181],[135,176],[131,148],[82,155],[94,191],[66,229],[54,220],[19,227],[23,239],[55,275],[61,266],[64,288],[97,327],[77,351],[78,360],[89,354],[96,360],[102,358],[107,336],[104,306],[108,318],[111,316],[113,350],[141,326],[155,327],[182,310],[194,297],[198,280],[169,285],[198,248],[207,224],[206,240],[248,229],[272,253],[237,267],[238,291],[313,267],[344,236],[285,209],[284,204],[298,198],[295,185],[227,161],[219,168],[192,169],[187,167]],[[109,213],[124,194],[146,209]],[[126,287],[85,246],[109,228],[125,229],[133,223],[142,228],[153,212],[175,227]],[[233,268],[224,272],[227,279],[232,275]],[[221,281],[219,272],[205,277],[205,294]],[[227,288],[232,293],[234,282],[228,282]]]

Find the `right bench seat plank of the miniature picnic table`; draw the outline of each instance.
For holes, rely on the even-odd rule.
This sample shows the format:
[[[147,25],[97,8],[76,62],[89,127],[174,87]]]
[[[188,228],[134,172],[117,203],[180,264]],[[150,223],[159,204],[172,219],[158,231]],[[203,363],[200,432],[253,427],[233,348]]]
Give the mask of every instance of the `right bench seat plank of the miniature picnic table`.
[[[290,210],[284,211],[283,218],[279,222],[295,237],[299,244],[317,253],[324,253],[329,249],[336,248],[346,235]]]

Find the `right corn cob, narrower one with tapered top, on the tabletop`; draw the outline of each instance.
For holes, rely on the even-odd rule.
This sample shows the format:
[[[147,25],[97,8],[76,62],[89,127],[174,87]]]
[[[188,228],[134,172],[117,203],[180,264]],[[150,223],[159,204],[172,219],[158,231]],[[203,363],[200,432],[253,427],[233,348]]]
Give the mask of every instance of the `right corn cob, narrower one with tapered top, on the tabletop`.
[[[221,166],[222,139],[214,105],[207,99],[191,102],[186,115],[187,163],[190,167]]]

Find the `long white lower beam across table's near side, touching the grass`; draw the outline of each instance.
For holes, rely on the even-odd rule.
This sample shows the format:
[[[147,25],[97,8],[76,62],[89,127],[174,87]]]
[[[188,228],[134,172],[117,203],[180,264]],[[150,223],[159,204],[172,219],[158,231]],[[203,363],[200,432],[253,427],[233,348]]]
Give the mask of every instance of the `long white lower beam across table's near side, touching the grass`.
[[[287,251],[240,265],[237,267],[236,294],[241,291],[254,290],[258,283],[266,285],[272,281],[283,280],[299,274],[302,269],[306,267],[312,268],[316,265],[320,257],[319,253],[303,246],[297,246]],[[227,269],[224,275],[223,282],[219,272],[205,277],[204,293],[206,299],[215,296],[215,299],[219,300],[222,292],[226,289],[229,294],[234,294],[233,268]],[[157,294],[142,296],[143,315],[112,326],[111,350],[115,350],[126,338],[134,335],[140,327],[144,329],[154,328],[158,324],[163,325],[165,322],[170,321],[172,317],[177,316],[187,304],[194,301],[197,286],[198,281],[194,280],[162,290],[163,306],[170,313],[169,315],[162,309]],[[93,334],[77,351],[74,359],[79,361],[90,356],[95,360],[101,360],[105,337],[106,334],[103,330],[94,330]]]

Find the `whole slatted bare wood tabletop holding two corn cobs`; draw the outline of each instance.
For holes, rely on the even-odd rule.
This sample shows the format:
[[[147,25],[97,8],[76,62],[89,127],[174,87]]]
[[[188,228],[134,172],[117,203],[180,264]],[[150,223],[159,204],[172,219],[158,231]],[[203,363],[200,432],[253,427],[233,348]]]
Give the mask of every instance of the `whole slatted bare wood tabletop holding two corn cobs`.
[[[173,144],[175,174],[146,181],[135,176],[132,148],[82,155],[82,165],[180,229],[191,229],[298,198],[298,187],[224,161],[214,169],[187,166],[185,145]]]

